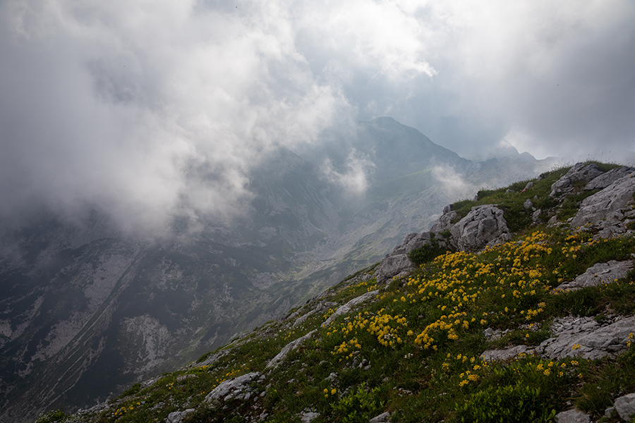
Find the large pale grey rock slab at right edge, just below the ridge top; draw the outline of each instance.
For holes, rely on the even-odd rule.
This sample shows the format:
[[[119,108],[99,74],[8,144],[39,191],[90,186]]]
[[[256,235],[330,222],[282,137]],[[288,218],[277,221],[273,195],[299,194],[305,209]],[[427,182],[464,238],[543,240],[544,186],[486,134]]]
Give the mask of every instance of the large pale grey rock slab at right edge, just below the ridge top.
[[[600,192],[583,200],[571,226],[602,223],[605,228],[619,226],[627,216],[627,206],[635,194],[635,173],[627,173]]]

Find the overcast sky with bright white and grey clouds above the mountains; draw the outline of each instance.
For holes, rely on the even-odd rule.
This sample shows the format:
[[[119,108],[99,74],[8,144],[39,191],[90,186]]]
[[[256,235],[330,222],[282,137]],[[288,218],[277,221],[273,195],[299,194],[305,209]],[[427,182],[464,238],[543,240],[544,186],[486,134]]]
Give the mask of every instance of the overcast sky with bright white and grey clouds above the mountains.
[[[0,216],[232,214],[267,149],[377,116],[467,158],[628,157],[634,22],[632,0],[3,0]]]

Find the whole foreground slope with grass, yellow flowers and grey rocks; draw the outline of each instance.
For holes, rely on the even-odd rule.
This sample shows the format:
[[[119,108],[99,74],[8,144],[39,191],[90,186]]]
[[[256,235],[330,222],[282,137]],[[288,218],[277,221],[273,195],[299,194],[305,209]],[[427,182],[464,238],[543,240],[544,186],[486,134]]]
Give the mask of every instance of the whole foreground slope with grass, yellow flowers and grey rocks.
[[[632,422],[635,169],[444,209],[282,319],[44,422]]]

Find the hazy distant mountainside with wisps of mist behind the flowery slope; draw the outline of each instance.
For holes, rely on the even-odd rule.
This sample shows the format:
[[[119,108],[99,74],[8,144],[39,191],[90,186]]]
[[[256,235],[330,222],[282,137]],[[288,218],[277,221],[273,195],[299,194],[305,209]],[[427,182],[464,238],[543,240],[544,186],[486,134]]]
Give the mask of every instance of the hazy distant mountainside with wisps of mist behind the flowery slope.
[[[231,215],[176,214],[153,236],[89,203],[0,222],[0,419],[90,405],[193,360],[377,261],[445,204],[552,164],[468,161],[376,118],[267,152]]]

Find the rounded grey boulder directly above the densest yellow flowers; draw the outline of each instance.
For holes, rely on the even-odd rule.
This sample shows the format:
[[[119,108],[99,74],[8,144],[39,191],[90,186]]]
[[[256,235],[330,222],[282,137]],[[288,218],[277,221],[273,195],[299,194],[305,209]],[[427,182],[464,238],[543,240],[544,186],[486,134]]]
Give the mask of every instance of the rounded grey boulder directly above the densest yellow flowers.
[[[461,251],[478,251],[512,239],[502,210],[493,204],[473,207],[450,233],[450,243]]]

